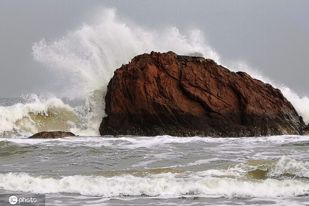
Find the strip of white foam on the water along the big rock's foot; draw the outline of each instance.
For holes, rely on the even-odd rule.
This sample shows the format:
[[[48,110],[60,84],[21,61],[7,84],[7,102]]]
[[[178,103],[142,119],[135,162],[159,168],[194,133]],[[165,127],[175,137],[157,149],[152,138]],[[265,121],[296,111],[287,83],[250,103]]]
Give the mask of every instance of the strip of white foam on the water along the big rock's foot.
[[[309,142],[309,136],[300,135],[280,135],[266,137],[244,137],[244,138],[212,138],[212,137],[173,137],[173,136],[156,136],[156,137],[66,137],[59,139],[25,139],[25,138],[0,138],[0,141],[10,141],[18,144],[27,145],[48,145],[45,146],[75,146],[84,145],[87,147],[114,147],[121,149],[136,148],[158,148],[165,147],[169,144],[203,142],[220,144],[222,148],[218,148],[221,152],[228,148],[238,148],[242,146],[243,150],[246,146],[255,148],[256,146],[280,146],[282,144],[293,144],[297,142]],[[217,148],[213,148],[217,149]],[[243,151],[242,151],[243,152]]]

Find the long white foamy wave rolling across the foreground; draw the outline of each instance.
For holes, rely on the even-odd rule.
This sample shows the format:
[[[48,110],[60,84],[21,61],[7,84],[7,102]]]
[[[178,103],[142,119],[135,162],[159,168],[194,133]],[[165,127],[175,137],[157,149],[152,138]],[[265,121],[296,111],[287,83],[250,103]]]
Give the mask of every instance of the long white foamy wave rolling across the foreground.
[[[309,193],[309,183],[266,179],[248,181],[235,178],[192,176],[164,173],[141,178],[132,175],[67,176],[61,179],[32,177],[25,173],[0,174],[0,188],[32,193],[69,192],[91,196],[204,194],[233,197],[298,196]]]

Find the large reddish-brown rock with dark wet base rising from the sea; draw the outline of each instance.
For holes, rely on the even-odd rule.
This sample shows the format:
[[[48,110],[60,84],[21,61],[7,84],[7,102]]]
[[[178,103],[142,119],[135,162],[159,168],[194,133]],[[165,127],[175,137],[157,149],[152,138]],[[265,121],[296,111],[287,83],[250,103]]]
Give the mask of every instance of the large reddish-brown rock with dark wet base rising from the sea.
[[[279,89],[173,52],[122,65],[105,100],[101,135],[243,137],[301,134],[306,127]]]

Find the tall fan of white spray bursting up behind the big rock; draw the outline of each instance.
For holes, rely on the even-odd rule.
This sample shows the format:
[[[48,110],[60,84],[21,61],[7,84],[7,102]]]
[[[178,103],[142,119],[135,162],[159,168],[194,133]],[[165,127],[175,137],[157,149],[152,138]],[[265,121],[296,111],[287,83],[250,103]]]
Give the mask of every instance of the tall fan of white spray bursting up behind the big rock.
[[[70,129],[79,135],[99,135],[99,123],[105,115],[106,86],[115,69],[134,56],[153,50],[172,50],[183,55],[200,53],[219,61],[218,54],[205,44],[198,30],[187,37],[177,28],[163,31],[129,28],[116,19],[111,9],[101,15],[99,23],[84,24],[56,41],[42,39],[33,46],[34,59],[57,79],[58,84],[53,81],[47,85],[53,95],[86,100],[84,106],[75,108],[80,125]]]

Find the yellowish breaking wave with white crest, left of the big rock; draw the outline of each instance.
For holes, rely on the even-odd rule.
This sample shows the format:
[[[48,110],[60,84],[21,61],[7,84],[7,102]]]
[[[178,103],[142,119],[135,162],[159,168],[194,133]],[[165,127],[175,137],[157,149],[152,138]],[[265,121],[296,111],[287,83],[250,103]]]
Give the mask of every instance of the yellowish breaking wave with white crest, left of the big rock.
[[[0,106],[0,137],[30,136],[40,131],[59,130],[96,136],[104,114],[104,94],[96,90],[76,107],[56,97],[40,99],[36,95],[32,95],[27,103]]]

